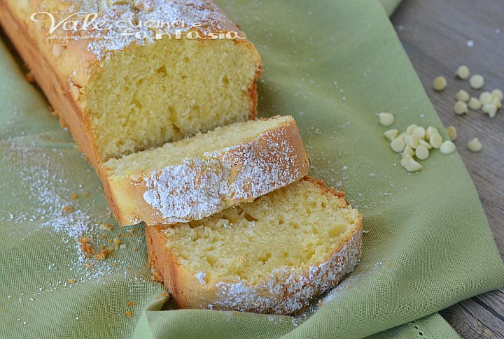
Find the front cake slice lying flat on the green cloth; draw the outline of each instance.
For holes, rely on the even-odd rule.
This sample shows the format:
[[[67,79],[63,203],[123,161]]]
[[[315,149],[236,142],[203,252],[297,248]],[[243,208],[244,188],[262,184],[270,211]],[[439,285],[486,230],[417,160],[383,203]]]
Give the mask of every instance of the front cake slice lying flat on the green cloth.
[[[290,315],[360,260],[362,217],[304,178],[174,226],[146,226],[148,260],[180,308]]]

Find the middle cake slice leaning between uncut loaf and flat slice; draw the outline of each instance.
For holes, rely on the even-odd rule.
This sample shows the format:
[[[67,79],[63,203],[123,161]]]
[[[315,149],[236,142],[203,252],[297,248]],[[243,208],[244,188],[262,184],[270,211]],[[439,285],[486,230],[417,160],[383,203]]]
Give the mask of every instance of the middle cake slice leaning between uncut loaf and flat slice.
[[[122,225],[202,219],[307,175],[293,117],[238,122],[162,147],[110,159],[106,196]]]

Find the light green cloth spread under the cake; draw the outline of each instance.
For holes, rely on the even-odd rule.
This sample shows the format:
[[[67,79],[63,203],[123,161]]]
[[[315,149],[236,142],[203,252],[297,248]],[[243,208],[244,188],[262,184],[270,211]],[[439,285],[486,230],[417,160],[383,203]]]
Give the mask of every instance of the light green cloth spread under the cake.
[[[97,176],[2,45],[0,338],[456,338],[431,314],[502,287],[503,263],[458,155],[434,152],[408,174],[383,137],[379,111],[395,113],[395,128],[442,131],[383,8],[374,0],[218,3],[263,57],[261,114],[294,115],[311,175],[344,189],[363,213],[361,264],[305,322],[163,307],[143,228],[99,230],[113,218]],[[79,236],[96,245],[122,233],[125,249],[84,266]]]

